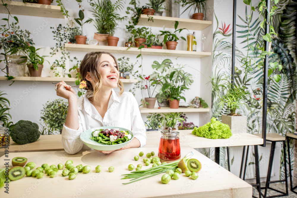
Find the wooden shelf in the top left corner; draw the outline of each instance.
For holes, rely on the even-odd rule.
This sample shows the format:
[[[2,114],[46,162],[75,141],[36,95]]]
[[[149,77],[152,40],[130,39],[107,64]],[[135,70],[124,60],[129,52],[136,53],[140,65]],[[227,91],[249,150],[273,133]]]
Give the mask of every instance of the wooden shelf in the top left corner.
[[[23,3],[18,1],[3,1],[7,4],[10,14],[14,15],[26,15],[26,16],[37,16],[37,17],[50,17],[50,18],[61,18],[65,16],[61,12],[60,6],[44,5],[44,4],[33,4]],[[5,7],[0,8],[0,13],[8,14]]]

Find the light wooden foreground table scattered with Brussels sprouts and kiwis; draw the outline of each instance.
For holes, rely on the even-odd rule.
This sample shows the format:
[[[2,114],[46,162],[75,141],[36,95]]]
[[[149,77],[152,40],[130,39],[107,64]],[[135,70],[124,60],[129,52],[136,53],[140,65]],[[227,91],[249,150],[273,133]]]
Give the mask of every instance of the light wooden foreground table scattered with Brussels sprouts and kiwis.
[[[181,147],[181,156],[192,151],[192,158],[198,159],[202,169],[198,172],[199,178],[192,180],[181,174],[179,180],[171,180],[168,184],[161,183],[163,174],[140,180],[131,184],[122,183],[129,180],[121,180],[121,175],[129,173],[128,165],[142,164],[142,170],[146,167],[140,157],[138,161],[133,158],[140,151],[149,153],[158,152],[158,147],[130,148],[114,151],[110,154],[99,153],[95,150],[80,151],[75,155],[68,155],[64,151],[48,152],[24,152],[9,153],[9,158],[0,158],[0,168],[4,167],[4,159],[13,157],[26,157],[28,161],[34,161],[37,166],[43,163],[65,163],[68,159],[73,160],[74,165],[89,165],[91,172],[88,174],[78,173],[74,180],[61,176],[61,170],[54,178],[44,175],[42,179],[24,177],[9,183],[9,194],[0,189],[0,197],[252,197],[252,186],[233,175],[231,172],[220,167],[195,149],[189,146]],[[97,165],[102,166],[100,173],[95,172]],[[115,170],[108,172],[108,167]],[[10,165],[11,167],[11,165]]]

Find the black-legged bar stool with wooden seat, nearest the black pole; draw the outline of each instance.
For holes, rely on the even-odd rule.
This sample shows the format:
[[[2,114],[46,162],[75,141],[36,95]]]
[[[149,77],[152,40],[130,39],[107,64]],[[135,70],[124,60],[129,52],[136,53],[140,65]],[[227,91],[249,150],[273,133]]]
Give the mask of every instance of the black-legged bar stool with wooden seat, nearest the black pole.
[[[262,134],[254,134],[256,136],[262,137]],[[271,150],[270,150],[270,157],[269,157],[269,165],[268,165],[268,172],[267,172],[267,178],[266,178],[266,186],[262,187],[261,189],[265,189],[264,195],[262,196],[264,198],[267,198],[267,190],[271,189],[276,192],[281,193],[280,195],[274,195],[274,196],[268,196],[269,198],[271,197],[282,197],[282,196],[287,196],[288,195],[288,178],[287,178],[287,160],[286,160],[286,137],[278,134],[278,133],[267,133],[266,134],[266,140],[271,142]],[[284,162],[285,162],[285,179],[284,180],[276,180],[276,181],[270,181],[271,178],[271,170],[272,170],[272,163],[273,163],[273,158],[274,158],[274,150],[275,150],[275,143],[276,142],[283,142],[283,148],[284,148]],[[247,160],[247,159],[246,159]],[[245,163],[247,164],[247,162]],[[286,183],[286,192],[282,192],[276,189],[273,189],[269,187],[270,183],[277,183],[277,182],[285,182]]]

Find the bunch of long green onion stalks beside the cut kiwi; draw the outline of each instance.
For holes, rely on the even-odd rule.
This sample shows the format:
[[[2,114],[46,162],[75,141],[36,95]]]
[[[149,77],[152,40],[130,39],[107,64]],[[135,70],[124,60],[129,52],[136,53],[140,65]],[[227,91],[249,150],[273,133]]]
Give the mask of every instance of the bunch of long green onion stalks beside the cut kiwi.
[[[185,161],[185,163],[187,164],[187,161],[190,159],[190,157],[192,157],[194,155],[193,152],[189,152],[183,159]],[[129,174],[124,174],[124,178],[121,179],[131,179],[130,182],[128,183],[123,183],[123,184],[129,184],[129,183],[133,183],[135,181],[140,181],[146,178],[150,178],[153,177],[155,175],[159,175],[161,173],[167,172],[168,170],[175,170],[177,169],[177,165],[178,165],[178,161],[173,161],[171,163],[168,164],[163,164],[163,165],[159,165],[156,167],[152,167],[146,170],[138,170],[138,171],[133,171]]]

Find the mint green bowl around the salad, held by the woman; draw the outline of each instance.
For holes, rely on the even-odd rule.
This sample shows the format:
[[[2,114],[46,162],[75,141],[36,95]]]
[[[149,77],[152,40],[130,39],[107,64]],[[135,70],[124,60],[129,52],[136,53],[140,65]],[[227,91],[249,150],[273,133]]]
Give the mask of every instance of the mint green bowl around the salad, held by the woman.
[[[88,129],[88,130],[84,131],[82,134],[80,134],[80,140],[83,141],[83,143],[85,145],[87,145],[88,147],[98,150],[98,151],[113,151],[113,150],[123,148],[124,146],[129,144],[129,142],[131,142],[131,140],[121,143],[121,144],[106,145],[106,144],[99,143],[99,142],[96,142],[95,140],[91,139],[92,132],[95,131],[96,129],[115,129],[115,128],[120,129],[120,131],[128,131],[129,134],[132,135],[131,140],[133,139],[134,134],[132,131],[130,131],[128,129],[125,129],[122,127],[116,127],[116,126],[102,126],[102,127],[97,127],[97,128]]]

